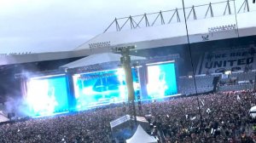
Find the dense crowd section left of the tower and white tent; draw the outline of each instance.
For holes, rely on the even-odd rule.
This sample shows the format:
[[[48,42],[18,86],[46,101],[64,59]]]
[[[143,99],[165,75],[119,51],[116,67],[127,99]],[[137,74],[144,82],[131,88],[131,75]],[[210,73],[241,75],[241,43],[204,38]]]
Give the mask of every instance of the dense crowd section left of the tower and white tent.
[[[1,143],[109,142],[109,122],[123,115],[120,108],[96,109],[58,117],[34,118],[0,126]]]

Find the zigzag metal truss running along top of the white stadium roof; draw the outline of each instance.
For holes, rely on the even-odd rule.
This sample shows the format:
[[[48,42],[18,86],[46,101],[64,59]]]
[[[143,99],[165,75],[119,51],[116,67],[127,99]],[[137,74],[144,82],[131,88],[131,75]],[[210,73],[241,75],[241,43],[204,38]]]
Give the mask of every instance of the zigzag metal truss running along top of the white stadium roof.
[[[223,10],[218,10],[218,12],[213,12],[212,8],[218,7],[218,5],[223,5]],[[207,8],[207,9],[203,9]],[[203,9],[206,10],[205,13],[202,12],[203,15],[198,14],[195,9]],[[243,10],[242,10],[243,9]],[[187,20],[200,20],[200,19],[207,19],[227,14],[234,14],[235,13],[235,1],[229,0],[224,2],[218,3],[209,3],[203,5],[197,5],[185,8]],[[202,10],[200,10],[201,13]],[[222,13],[223,12],[223,13]],[[247,0],[241,4],[240,9],[237,11],[236,14],[244,12],[250,12],[249,3]],[[164,16],[166,15],[166,16]],[[181,16],[180,16],[181,15]],[[149,21],[148,19],[152,18],[153,21]],[[168,22],[167,22],[168,21]],[[108,26],[108,28],[104,32],[111,31],[112,27],[115,27],[116,31],[125,30],[124,27],[129,27],[131,30],[148,27],[148,26],[157,26],[157,23],[160,25],[166,25],[176,22],[183,21],[183,9],[172,9],[166,11],[160,11],[157,13],[150,13],[150,14],[139,14],[135,16],[123,17],[123,18],[115,18],[113,22]]]

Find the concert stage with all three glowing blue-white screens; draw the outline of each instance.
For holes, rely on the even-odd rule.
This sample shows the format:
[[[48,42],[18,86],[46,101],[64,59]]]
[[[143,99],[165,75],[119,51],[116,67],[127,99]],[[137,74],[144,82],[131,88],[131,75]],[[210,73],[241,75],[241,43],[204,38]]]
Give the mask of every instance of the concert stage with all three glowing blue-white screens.
[[[73,66],[62,74],[25,77],[26,113],[31,117],[50,116],[128,101],[125,72],[117,59],[97,64],[95,68],[94,65]],[[136,102],[178,94],[175,60],[135,63],[131,73]]]

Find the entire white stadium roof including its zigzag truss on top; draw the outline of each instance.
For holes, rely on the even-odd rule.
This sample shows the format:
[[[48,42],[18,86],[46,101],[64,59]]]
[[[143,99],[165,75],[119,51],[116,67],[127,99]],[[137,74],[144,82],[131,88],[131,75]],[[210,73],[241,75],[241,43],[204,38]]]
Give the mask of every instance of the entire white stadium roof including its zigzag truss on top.
[[[190,43],[254,36],[256,20],[252,18],[256,5],[248,0],[238,2],[230,0],[185,8]],[[38,50],[31,54],[10,50],[9,54],[1,54],[0,50],[0,66],[111,52],[117,46],[137,45],[137,49],[151,49],[186,43],[183,9],[172,9],[114,19],[102,34],[71,51],[55,49],[51,53],[41,53]]]

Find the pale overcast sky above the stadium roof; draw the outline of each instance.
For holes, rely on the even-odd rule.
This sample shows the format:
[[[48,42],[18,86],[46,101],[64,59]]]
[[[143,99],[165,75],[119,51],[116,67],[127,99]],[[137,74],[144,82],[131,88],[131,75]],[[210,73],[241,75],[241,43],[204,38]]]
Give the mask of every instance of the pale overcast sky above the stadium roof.
[[[224,0],[184,1],[191,6]],[[175,8],[182,8],[181,0],[0,0],[0,54],[75,49],[115,17]]]

